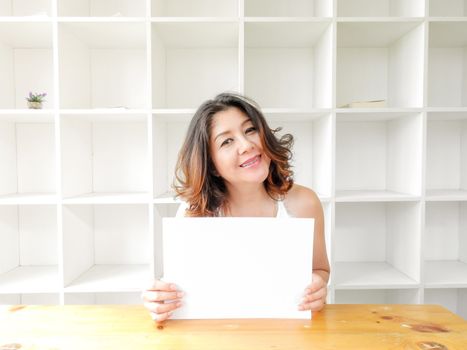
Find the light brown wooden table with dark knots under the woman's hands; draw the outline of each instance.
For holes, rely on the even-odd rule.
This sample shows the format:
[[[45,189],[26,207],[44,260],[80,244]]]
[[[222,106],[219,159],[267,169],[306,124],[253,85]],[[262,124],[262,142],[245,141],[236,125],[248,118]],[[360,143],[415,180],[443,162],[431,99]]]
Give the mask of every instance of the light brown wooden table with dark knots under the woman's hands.
[[[434,305],[327,305],[313,320],[169,320],[142,306],[0,306],[0,350],[467,349],[467,322]]]

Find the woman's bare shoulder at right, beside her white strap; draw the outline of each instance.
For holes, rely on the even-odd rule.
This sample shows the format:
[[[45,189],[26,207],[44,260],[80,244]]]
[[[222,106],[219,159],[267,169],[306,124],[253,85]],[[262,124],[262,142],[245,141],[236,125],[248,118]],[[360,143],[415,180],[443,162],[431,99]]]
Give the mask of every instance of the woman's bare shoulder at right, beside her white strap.
[[[323,215],[318,195],[312,189],[294,184],[285,197],[285,206],[297,218],[316,218]]]

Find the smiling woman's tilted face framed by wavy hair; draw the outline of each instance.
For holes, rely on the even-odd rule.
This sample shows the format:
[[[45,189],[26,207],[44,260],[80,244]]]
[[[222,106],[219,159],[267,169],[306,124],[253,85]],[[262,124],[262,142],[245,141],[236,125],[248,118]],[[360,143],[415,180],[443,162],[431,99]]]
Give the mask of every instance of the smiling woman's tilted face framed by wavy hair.
[[[268,176],[271,159],[263,153],[259,132],[238,108],[213,116],[210,152],[217,172],[227,183],[263,183]]]

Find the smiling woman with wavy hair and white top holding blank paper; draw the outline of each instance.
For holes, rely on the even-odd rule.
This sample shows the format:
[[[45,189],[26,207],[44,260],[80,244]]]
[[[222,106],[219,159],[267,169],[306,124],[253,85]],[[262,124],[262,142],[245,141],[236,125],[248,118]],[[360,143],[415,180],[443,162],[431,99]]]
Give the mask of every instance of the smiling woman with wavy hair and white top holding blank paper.
[[[330,274],[323,209],[311,189],[293,183],[293,138],[276,138],[278,130],[268,127],[247,97],[223,93],[206,101],[193,116],[180,150],[175,190],[186,203],[185,216],[314,218],[313,278],[298,308],[319,311]],[[156,280],[142,297],[152,317],[162,322],[182,306],[183,292]]]

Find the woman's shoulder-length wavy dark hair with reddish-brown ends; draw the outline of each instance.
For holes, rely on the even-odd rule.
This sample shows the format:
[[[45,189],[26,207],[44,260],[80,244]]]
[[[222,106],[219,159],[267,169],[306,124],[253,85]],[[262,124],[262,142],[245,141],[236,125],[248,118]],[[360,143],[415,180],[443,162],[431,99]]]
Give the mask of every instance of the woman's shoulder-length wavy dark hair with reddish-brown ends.
[[[292,188],[293,136],[278,139],[259,106],[250,98],[237,93],[222,93],[204,102],[191,119],[182,148],[178,154],[173,188],[176,196],[188,203],[187,216],[218,216],[226,204],[227,187],[218,175],[209,153],[212,120],[216,113],[238,108],[251,120],[260,135],[263,152],[271,159],[264,188],[274,200],[280,200]]]

